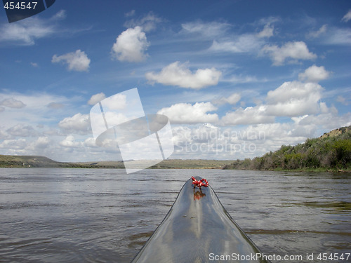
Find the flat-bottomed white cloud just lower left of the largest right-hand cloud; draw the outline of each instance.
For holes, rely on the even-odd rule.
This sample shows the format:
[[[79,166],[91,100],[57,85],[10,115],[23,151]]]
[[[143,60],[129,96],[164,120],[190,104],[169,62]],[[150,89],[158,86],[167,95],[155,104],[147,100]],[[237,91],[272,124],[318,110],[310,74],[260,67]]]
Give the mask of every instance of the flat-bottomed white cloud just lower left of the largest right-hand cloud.
[[[267,107],[265,105],[247,107],[246,109],[239,108],[234,112],[227,112],[221,121],[225,126],[238,124],[273,123],[274,116],[267,114],[266,110]]]

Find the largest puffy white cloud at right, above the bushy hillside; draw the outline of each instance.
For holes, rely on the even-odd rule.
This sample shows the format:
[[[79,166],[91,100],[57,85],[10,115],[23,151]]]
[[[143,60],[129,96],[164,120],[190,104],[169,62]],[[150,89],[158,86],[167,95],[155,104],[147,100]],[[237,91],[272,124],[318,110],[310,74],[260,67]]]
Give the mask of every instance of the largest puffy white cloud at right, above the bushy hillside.
[[[267,93],[267,114],[272,116],[303,116],[321,111],[322,86],[317,83],[289,81]]]

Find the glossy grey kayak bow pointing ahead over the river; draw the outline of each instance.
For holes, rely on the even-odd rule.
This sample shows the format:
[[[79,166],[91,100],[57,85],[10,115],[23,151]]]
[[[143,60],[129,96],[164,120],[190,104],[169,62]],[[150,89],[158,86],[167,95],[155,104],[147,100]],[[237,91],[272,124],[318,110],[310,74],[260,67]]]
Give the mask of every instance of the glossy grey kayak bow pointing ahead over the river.
[[[199,177],[197,177],[198,179]],[[269,262],[211,187],[188,180],[132,263]]]

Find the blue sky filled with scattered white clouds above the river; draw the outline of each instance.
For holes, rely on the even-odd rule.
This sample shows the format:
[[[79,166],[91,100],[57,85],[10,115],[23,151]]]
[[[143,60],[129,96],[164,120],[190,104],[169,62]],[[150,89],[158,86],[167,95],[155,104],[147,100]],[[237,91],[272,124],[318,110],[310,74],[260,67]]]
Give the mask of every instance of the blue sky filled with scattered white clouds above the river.
[[[244,159],[351,125],[350,1],[60,1],[0,11],[0,154],[121,159],[89,112],[138,88],[175,159]],[[142,149],[140,149],[142,150]]]

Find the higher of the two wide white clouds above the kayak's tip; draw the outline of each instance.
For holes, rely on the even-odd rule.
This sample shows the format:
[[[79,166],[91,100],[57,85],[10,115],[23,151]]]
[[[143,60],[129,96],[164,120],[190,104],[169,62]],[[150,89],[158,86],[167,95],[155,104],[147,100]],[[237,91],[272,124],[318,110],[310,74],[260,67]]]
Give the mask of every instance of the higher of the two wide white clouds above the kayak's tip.
[[[187,63],[173,62],[164,67],[161,72],[147,72],[146,79],[150,82],[158,82],[168,86],[179,86],[181,88],[204,88],[217,85],[222,72],[215,68],[197,69],[192,73],[187,68]]]

